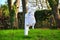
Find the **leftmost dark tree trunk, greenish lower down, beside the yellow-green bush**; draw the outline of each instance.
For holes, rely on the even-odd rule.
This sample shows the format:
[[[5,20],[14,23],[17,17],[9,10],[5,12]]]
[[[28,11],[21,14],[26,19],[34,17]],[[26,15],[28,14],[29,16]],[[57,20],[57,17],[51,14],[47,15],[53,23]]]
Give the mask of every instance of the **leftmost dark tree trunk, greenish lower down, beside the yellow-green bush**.
[[[13,27],[13,21],[14,21],[14,10],[12,7],[12,0],[7,0],[8,2],[8,8],[9,8],[9,14],[10,14],[10,28]]]

